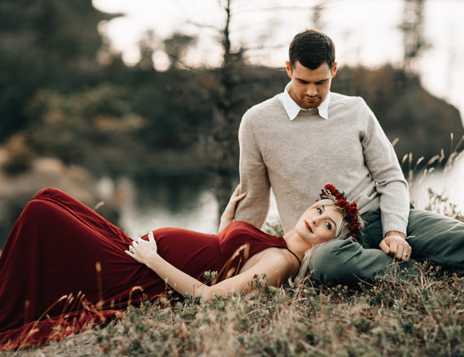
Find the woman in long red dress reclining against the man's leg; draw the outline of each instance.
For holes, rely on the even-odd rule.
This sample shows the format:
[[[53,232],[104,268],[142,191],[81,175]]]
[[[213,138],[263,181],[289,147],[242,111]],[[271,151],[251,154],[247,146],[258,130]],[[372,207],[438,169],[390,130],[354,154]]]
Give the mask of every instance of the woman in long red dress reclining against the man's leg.
[[[278,286],[298,270],[299,278],[306,274],[306,252],[319,243],[359,233],[355,202],[348,203],[331,185],[283,237],[232,222],[243,197],[237,194],[217,236],[160,228],[148,240],[132,241],[66,193],[39,191],[0,257],[0,348],[63,338],[128,304],[163,296],[166,283],[177,291],[173,296],[188,292],[203,299],[248,291],[256,274],[266,273],[269,284]],[[205,284],[206,271],[219,272],[211,286]]]

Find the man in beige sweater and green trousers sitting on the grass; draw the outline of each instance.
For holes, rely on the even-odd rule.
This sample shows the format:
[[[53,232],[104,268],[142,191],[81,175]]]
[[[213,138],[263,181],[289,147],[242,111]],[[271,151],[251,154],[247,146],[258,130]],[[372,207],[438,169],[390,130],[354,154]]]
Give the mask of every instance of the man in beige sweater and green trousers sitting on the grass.
[[[358,203],[365,239],[319,246],[309,266],[313,278],[372,281],[394,261],[412,267],[410,257],[464,273],[464,224],[410,209],[408,184],[373,112],[363,99],[331,93],[337,72],[331,39],[314,30],[297,34],[286,69],[291,82],[283,93],[253,106],[241,122],[241,192],[247,195],[236,220],[261,227],[272,187],[289,231],[332,183]]]

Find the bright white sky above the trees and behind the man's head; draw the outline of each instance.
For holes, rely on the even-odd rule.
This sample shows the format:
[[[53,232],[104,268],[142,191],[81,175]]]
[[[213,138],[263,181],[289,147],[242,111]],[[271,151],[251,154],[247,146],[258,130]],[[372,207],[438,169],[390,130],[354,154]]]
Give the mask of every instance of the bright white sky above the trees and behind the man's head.
[[[223,1],[223,0],[222,0]],[[218,66],[221,46],[218,30],[226,19],[221,0],[93,0],[105,12],[126,14],[101,24],[115,51],[127,64],[138,61],[138,41],[149,29],[159,39],[173,32],[198,36],[188,52],[191,66]],[[252,64],[282,67],[295,34],[311,28],[313,6],[321,0],[233,0],[231,42],[235,49],[250,49]],[[403,37],[403,0],[326,0],[323,31],[336,44],[339,66],[400,66]],[[423,86],[445,99],[464,116],[464,0],[427,0],[425,38],[430,49],[415,64]],[[200,24],[201,26],[196,26]],[[166,54],[154,56],[157,69],[165,69]]]

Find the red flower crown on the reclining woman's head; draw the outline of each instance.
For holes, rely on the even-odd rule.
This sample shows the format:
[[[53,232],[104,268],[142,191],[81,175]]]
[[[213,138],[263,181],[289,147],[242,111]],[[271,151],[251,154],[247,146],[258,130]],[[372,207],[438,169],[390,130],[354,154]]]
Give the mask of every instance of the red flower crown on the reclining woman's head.
[[[341,193],[331,184],[327,184],[322,190],[321,199],[325,198],[331,199],[338,208],[338,211],[343,214],[343,218],[348,221],[348,227],[350,228],[348,237],[352,236],[358,240],[363,234],[361,231],[360,216],[358,214],[358,204],[355,201],[349,203],[346,199],[346,194],[344,192]]]

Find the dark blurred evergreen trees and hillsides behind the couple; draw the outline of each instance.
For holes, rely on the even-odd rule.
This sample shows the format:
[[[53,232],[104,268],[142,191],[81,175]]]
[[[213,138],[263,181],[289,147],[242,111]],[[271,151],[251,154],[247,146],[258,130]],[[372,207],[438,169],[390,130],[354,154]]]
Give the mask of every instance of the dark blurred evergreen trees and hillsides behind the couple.
[[[161,151],[189,151],[189,161],[195,157],[201,170],[228,181],[218,186],[230,186],[238,176],[241,116],[281,92],[286,72],[247,65],[243,50],[231,50],[228,23],[220,31],[225,54],[217,69],[186,69],[183,56],[195,39],[179,33],[163,41],[171,56],[166,72],[128,68],[118,54],[102,65],[97,25],[114,16],[91,0],[1,1],[0,141],[24,131],[31,152],[96,174],[141,172],[155,166],[150,161],[163,165],[152,157]],[[153,54],[153,41],[143,44],[146,56]],[[389,139],[400,139],[399,158],[447,153],[450,133],[456,141],[464,134],[458,111],[401,69],[343,67],[333,91],[365,99]],[[138,126],[129,130],[134,120]]]

